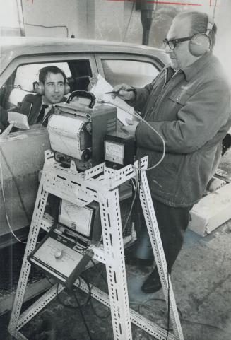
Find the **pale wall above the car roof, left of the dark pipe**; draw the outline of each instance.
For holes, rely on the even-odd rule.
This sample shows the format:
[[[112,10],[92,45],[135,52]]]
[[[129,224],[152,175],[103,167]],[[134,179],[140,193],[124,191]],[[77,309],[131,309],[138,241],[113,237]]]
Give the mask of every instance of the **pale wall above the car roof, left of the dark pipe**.
[[[136,43],[142,40],[140,13],[131,2],[23,0],[22,3],[28,36],[71,37],[73,34],[98,40]]]

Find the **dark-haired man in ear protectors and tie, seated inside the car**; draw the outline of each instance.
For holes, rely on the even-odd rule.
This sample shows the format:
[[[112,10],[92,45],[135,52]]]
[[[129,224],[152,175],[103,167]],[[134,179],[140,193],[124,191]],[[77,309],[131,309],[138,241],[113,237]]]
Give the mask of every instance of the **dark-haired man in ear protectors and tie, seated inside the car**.
[[[53,113],[53,104],[66,101],[64,95],[69,93],[66,74],[57,66],[46,66],[40,69],[39,82],[35,81],[36,95],[25,95],[23,101],[11,111],[28,116],[29,125],[41,123],[47,127],[48,117]],[[6,128],[6,127],[5,127]]]

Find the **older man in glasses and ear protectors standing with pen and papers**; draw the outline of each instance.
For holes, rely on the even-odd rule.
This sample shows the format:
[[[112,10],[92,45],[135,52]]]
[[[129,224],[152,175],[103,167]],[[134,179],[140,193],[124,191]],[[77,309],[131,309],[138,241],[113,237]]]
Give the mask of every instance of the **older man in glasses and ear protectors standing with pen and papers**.
[[[216,25],[206,13],[179,13],[164,40],[170,66],[144,88],[130,92],[126,89],[131,86],[125,84],[114,88],[165,139],[165,158],[147,175],[169,273],[182,247],[189,211],[218,166],[222,140],[231,125],[230,88],[213,56],[215,33]],[[136,137],[137,158],[148,155],[148,167],[158,163],[162,156],[158,135],[144,122],[128,124],[123,129]],[[143,228],[138,247],[146,244],[148,249],[148,242],[150,248]],[[154,293],[160,288],[155,267],[142,290]]]

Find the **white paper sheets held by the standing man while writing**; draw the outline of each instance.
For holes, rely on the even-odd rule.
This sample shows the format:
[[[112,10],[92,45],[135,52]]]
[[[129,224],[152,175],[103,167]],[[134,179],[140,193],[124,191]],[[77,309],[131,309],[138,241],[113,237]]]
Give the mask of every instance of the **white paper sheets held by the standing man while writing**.
[[[104,100],[105,104],[117,107],[117,117],[126,126],[126,118],[134,119],[134,116],[131,115],[134,112],[134,108],[118,97],[112,99],[112,95],[105,94],[105,92],[112,91],[112,89],[112,86],[105,81],[105,78],[97,74],[97,83],[93,85],[90,92],[94,93],[97,100]]]

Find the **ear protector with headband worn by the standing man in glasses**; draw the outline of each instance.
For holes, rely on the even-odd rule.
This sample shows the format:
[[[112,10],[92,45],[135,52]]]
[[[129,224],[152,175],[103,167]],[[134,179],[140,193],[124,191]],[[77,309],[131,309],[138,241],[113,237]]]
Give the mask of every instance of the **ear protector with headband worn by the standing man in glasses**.
[[[189,42],[189,52],[195,57],[199,57],[211,49],[211,37],[210,33],[213,29],[214,20],[208,16],[208,25],[206,33],[195,34]]]

